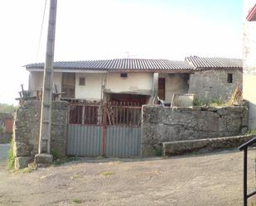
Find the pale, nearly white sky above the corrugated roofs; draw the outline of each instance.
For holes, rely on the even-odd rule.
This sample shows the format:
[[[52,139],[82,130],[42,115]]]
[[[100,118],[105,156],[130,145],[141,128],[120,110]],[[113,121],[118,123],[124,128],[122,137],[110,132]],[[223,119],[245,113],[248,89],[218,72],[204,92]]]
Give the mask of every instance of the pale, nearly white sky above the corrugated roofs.
[[[46,2],[46,14],[42,24]],[[0,103],[44,62],[50,0],[0,2]],[[59,0],[55,60],[242,58],[242,0]]]

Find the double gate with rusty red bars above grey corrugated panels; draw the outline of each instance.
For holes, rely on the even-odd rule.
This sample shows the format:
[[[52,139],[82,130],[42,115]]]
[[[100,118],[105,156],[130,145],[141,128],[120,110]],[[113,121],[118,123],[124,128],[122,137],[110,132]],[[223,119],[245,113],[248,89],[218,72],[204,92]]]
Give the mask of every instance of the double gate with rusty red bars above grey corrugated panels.
[[[67,155],[140,156],[141,111],[132,103],[70,104]]]

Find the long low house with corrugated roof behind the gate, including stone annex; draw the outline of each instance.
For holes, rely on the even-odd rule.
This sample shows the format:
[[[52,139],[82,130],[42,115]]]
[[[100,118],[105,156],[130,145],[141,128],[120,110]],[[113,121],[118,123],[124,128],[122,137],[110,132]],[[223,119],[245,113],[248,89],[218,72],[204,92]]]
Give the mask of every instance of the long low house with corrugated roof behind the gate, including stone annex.
[[[26,65],[29,90],[42,88],[44,64]],[[241,60],[187,57],[174,60],[94,60],[55,62],[53,82],[61,99],[147,104],[157,96],[170,104],[174,93],[227,99],[242,82]]]

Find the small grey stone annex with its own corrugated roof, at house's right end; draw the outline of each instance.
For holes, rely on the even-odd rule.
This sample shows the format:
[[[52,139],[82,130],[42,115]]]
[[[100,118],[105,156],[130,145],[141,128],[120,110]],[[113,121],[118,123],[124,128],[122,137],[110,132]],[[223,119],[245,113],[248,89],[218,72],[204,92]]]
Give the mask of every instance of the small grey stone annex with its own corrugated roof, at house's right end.
[[[189,56],[186,61],[195,68],[188,92],[195,93],[198,98],[226,101],[236,87],[242,89],[242,60]]]

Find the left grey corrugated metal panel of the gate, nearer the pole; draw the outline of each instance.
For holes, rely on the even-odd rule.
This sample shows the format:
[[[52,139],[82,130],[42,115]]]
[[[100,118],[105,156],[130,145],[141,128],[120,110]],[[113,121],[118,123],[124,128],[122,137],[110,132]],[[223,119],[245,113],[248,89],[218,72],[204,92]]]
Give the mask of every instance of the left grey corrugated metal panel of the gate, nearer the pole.
[[[68,125],[67,155],[102,155],[102,127],[94,125]]]

